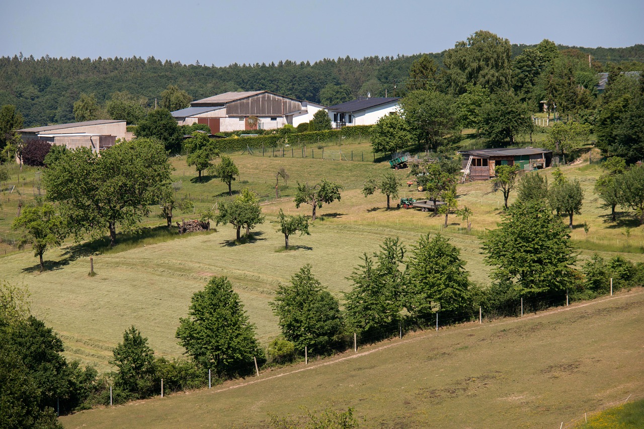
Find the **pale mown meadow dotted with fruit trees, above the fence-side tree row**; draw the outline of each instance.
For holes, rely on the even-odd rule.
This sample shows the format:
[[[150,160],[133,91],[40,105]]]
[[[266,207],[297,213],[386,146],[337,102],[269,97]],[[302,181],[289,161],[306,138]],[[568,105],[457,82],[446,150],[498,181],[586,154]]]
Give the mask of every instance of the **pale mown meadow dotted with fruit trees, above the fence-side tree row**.
[[[331,149],[328,149],[331,148]],[[351,149],[352,148],[352,149]],[[298,148],[295,148],[297,150]],[[316,153],[317,153],[316,149]],[[327,151],[367,151],[367,144],[353,146],[328,146]],[[37,258],[31,251],[14,252],[0,258],[0,278],[17,285],[25,285],[32,292],[33,312],[53,327],[64,339],[66,355],[81,359],[83,363],[109,370],[111,349],[122,339],[122,332],[135,325],[149,338],[151,347],[159,356],[176,357],[183,352],[176,344],[175,332],[180,317],[185,317],[192,294],[202,289],[213,275],[228,276],[240,294],[251,321],[256,324],[263,344],[279,333],[277,319],[269,302],[279,283],[289,281],[292,274],[305,263],[313,266],[316,277],[342,302],[343,293],[350,290],[346,280],[360,262],[363,253],[377,251],[387,236],[399,236],[410,246],[421,234],[441,231],[442,216],[431,216],[415,210],[393,209],[386,211],[385,197],[379,193],[365,198],[361,187],[369,176],[377,177],[388,171],[388,163],[345,162],[321,158],[281,158],[255,155],[233,155],[241,177],[233,189],[249,187],[262,196],[263,212],[267,222],[255,231],[250,243],[234,243],[234,229],[219,225],[211,234],[194,234],[180,240],[139,246],[127,251],[108,251],[95,254],[97,276],[89,277],[90,253],[76,247],[62,247],[45,254],[48,271],[37,272]],[[185,158],[172,158],[175,172],[173,182],[180,187],[178,196],[189,196],[196,211],[213,207],[227,196],[227,187],[220,180],[205,177],[204,182],[194,180],[194,171],[185,166]],[[284,167],[290,175],[288,186],[275,197],[275,175]],[[632,222],[623,216],[617,225],[606,222],[607,214],[601,209],[592,186],[600,169],[580,163],[563,168],[569,178],[579,178],[585,189],[582,215],[574,218],[573,238],[580,245],[592,247],[599,240],[610,250],[623,250],[627,242],[623,225]],[[408,171],[397,171],[401,182],[406,182]],[[551,175],[551,171],[547,172]],[[24,169],[26,183],[35,180],[36,172]],[[32,178],[30,178],[32,177]],[[318,211],[321,216],[311,228],[311,236],[292,236],[290,251],[283,247],[283,235],[276,232],[279,209],[288,214],[310,214],[310,206],[296,209],[292,195],[296,182],[317,182],[321,178],[334,180],[345,186],[342,199],[325,205]],[[280,181],[280,184],[282,182]],[[471,279],[481,284],[489,283],[489,267],[483,262],[478,235],[485,229],[496,227],[502,213],[502,195],[491,192],[489,182],[473,182],[459,186],[459,206],[468,205],[474,211],[471,218],[472,234],[466,234],[460,218],[450,215],[446,235],[461,251],[467,261]],[[28,200],[28,193],[23,198]],[[422,198],[413,187],[403,186],[401,196]],[[3,205],[0,227],[7,232],[12,216],[14,195],[4,196],[9,202]],[[33,198],[33,196],[32,196]],[[511,201],[515,193],[511,195]],[[395,206],[395,201],[393,201]],[[195,214],[175,212],[175,220],[192,218]],[[591,225],[588,237],[583,233],[583,222]],[[621,224],[620,224],[621,222]],[[163,225],[154,213],[146,225]],[[642,228],[634,228],[629,239],[636,248],[644,240]],[[68,245],[71,246],[71,241]],[[612,247],[611,247],[612,246]],[[631,249],[632,250],[632,249]],[[592,251],[580,251],[580,260]],[[643,262],[639,253],[600,252],[605,257],[614,254]]]

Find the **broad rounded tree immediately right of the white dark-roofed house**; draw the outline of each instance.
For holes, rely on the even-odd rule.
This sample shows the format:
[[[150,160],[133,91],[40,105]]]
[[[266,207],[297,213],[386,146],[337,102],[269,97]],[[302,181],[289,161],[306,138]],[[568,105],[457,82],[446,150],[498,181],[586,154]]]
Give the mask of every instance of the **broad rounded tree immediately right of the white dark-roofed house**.
[[[438,149],[459,134],[455,99],[437,91],[412,91],[400,100],[403,117],[426,150]]]

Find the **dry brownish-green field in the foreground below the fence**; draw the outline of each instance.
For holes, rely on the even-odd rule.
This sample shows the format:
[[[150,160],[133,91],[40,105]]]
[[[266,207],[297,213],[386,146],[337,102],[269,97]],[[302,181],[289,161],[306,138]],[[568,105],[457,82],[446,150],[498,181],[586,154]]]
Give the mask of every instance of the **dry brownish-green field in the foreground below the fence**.
[[[61,417],[67,428],[255,428],[355,408],[370,428],[571,428],[643,397],[644,291],[416,332],[325,359]],[[362,420],[364,419],[364,420]]]

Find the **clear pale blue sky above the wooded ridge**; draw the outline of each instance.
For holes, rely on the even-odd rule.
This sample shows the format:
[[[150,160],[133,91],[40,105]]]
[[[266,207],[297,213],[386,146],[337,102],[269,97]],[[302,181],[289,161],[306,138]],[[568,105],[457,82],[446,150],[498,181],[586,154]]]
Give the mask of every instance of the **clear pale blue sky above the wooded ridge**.
[[[0,55],[216,66],[440,52],[477,30],[511,43],[644,43],[643,0],[4,0],[0,17]]]

